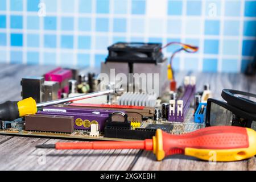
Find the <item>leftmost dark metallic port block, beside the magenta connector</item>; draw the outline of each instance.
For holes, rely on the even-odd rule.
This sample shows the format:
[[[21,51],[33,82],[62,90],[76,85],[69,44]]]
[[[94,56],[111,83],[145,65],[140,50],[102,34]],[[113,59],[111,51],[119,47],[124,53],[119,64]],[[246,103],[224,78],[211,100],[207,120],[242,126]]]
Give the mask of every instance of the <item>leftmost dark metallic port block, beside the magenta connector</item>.
[[[44,77],[24,77],[20,85],[23,99],[32,97],[36,103],[44,101]]]

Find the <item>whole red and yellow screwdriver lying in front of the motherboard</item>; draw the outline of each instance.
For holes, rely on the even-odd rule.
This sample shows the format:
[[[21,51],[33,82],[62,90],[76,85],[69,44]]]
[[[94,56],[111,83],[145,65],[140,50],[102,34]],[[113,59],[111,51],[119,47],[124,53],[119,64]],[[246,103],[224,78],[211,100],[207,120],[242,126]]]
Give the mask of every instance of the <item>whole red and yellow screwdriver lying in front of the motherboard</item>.
[[[157,129],[152,139],[124,142],[58,142],[36,147],[57,150],[140,149],[153,151],[157,160],[162,160],[168,155],[183,154],[202,160],[228,162],[256,155],[256,132],[245,127],[212,126],[188,134],[173,135]]]

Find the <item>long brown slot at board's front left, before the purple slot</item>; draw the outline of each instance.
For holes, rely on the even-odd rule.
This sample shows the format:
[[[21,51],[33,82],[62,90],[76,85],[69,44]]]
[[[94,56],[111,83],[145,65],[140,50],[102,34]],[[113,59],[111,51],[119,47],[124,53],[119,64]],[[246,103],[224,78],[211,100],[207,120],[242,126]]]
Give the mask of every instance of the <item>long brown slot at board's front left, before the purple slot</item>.
[[[51,131],[72,133],[74,131],[74,118],[63,115],[26,115],[25,129],[28,131]]]

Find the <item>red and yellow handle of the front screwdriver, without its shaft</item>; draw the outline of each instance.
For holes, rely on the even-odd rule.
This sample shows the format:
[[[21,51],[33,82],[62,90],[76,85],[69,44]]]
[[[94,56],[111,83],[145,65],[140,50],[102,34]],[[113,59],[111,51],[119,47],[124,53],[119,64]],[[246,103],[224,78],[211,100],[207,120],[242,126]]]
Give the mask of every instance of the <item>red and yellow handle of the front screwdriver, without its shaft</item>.
[[[174,154],[203,160],[215,155],[219,162],[243,160],[256,155],[256,132],[236,126],[206,127],[183,135],[157,130],[153,137],[153,152],[157,160]]]

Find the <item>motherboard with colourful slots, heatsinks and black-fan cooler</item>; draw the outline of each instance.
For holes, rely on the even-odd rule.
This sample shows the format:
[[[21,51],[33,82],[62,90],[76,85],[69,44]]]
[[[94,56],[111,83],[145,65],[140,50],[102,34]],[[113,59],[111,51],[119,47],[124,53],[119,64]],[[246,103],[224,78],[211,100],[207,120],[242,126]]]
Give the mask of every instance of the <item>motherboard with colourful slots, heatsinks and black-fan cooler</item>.
[[[185,76],[183,84],[178,86],[174,78],[168,80],[170,67],[167,67],[161,47],[162,44],[157,43],[117,43],[110,46],[109,56],[101,65],[101,74],[110,76],[107,82],[96,73],[61,67],[40,77],[22,78],[23,99],[32,97],[36,103],[85,94],[92,97],[40,107],[36,114],[27,114],[14,121],[0,121],[0,134],[81,140],[141,140],[152,138],[156,129],[179,135],[205,127],[206,101],[211,95],[209,85],[196,90],[196,78],[193,76]],[[111,77],[113,70],[127,76],[127,81],[118,91],[119,77]],[[131,74],[143,78],[143,75],[152,73],[157,75],[158,84],[152,81],[153,78],[149,81],[154,82],[158,92],[143,89],[140,84],[144,80],[128,79]],[[104,93],[108,89],[116,92]]]

